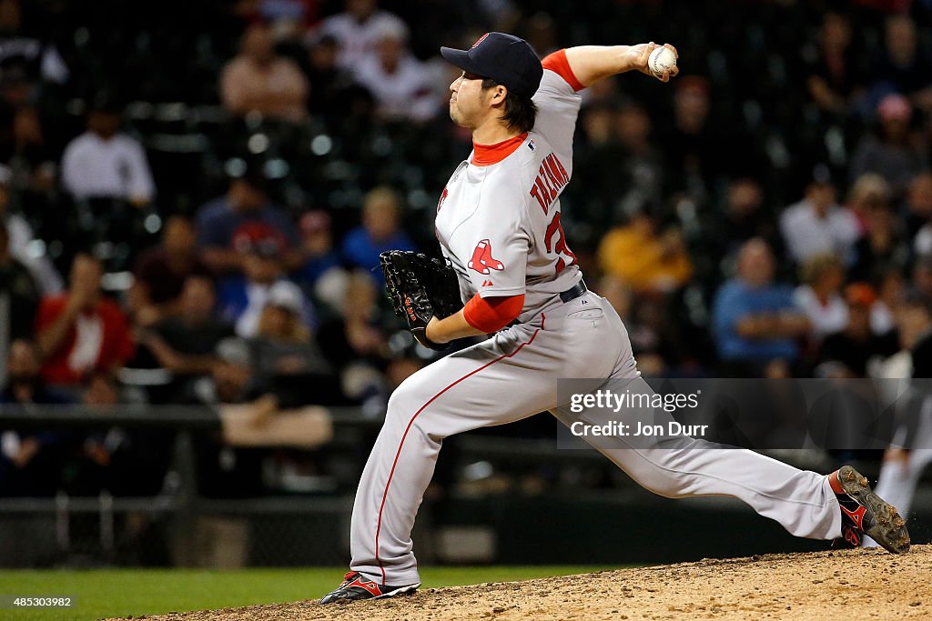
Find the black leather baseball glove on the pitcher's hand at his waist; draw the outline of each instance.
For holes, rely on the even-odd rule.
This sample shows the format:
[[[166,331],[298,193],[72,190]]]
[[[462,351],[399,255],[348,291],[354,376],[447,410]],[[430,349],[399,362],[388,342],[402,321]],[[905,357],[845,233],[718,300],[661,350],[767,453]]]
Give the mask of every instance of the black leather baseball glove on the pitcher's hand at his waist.
[[[431,317],[444,318],[462,308],[457,275],[444,261],[420,252],[389,250],[378,255],[395,315],[407,324],[419,344],[437,351],[449,345],[427,338]]]

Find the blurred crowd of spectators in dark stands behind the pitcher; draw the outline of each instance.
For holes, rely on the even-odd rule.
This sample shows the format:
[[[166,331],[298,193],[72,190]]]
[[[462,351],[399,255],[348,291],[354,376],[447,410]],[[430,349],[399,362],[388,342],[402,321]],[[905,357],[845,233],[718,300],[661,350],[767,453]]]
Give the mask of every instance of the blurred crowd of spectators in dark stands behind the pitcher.
[[[643,372],[925,368],[928,0],[0,0],[0,399],[381,415],[432,352],[377,256],[437,252],[471,148],[438,48],[490,30],[678,47],[668,85],[583,92],[562,198]],[[158,491],[171,434],[141,433],[0,432],[0,494]]]

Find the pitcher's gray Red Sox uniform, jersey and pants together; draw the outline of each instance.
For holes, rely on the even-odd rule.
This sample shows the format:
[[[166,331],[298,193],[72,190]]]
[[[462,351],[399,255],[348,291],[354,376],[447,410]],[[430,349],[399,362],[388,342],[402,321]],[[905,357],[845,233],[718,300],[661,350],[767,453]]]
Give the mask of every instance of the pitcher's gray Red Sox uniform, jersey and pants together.
[[[519,322],[407,378],[389,400],[353,506],[352,570],[383,585],[420,582],[411,530],[443,440],[549,411],[584,420],[556,394],[561,377],[637,378],[624,324],[589,291],[564,303],[582,278],[560,224],[572,174],[582,85],[564,51],[543,61],[539,112],[527,135],[476,146],[437,205],[437,237],[459,274],[463,299],[525,294]],[[642,381],[642,380],[638,380]],[[646,386],[645,386],[646,387]],[[730,495],[800,536],[841,535],[828,478],[761,454],[702,447],[604,449],[639,484],[669,497]]]

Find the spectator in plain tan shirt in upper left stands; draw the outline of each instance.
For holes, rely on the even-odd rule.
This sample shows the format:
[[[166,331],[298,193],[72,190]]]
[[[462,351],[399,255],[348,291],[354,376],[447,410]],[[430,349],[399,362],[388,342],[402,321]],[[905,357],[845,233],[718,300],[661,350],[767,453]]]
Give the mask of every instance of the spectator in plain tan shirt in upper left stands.
[[[235,115],[255,112],[291,123],[308,115],[308,78],[295,61],[276,55],[272,31],[263,22],[246,29],[240,53],[221,74],[220,90]]]

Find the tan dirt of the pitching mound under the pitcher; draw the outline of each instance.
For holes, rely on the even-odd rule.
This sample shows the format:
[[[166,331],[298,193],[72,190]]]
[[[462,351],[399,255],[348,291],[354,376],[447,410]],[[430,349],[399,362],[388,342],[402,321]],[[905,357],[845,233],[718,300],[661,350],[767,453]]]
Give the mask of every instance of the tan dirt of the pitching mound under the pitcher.
[[[138,617],[137,617],[138,618]],[[932,545],[776,554],[598,574],[425,589],[397,599],[317,601],[147,617],[206,619],[891,619],[932,618]]]

